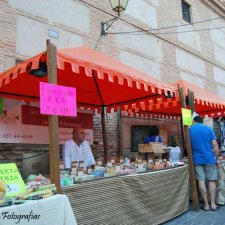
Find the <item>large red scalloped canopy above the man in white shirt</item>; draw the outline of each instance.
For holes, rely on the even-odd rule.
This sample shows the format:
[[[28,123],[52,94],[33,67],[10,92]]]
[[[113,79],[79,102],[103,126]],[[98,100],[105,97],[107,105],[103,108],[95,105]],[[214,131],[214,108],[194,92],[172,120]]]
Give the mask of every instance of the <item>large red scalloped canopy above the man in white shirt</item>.
[[[39,82],[47,82],[47,76],[39,78],[31,73],[41,63],[46,63],[46,52],[2,73],[0,95],[39,101]],[[76,87],[78,104],[90,108],[106,106],[116,109],[120,106],[122,109],[137,111],[143,102],[148,109],[163,108],[164,103],[168,108],[172,103],[171,99],[168,101],[167,95],[174,96],[176,90],[173,86],[87,47],[57,51],[57,79],[58,85]],[[166,113],[165,110],[162,112]]]

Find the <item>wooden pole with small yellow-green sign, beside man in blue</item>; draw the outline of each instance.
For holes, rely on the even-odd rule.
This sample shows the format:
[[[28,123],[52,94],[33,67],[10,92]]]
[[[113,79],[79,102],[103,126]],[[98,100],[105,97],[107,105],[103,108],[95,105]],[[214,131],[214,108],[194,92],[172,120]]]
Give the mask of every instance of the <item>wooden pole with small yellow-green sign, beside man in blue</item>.
[[[185,101],[185,96],[184,96],[184,92],[182,88],[179,88],[179,96],[180,96],[181,107],[186,109],[186,101]],[[189,127],[187,125],[184,125],[184,135],[186,140],[185,145],[186,145],[187,154],[188,154],[188,168],[189,168],[189,174],[191,179],[193,208],[194,210],[198,210],[199,209],[198,192],[196,187],[195,171],[194,171],[194,165],[193,165],[193,159],[192,159],[190,133],[189,133]]]

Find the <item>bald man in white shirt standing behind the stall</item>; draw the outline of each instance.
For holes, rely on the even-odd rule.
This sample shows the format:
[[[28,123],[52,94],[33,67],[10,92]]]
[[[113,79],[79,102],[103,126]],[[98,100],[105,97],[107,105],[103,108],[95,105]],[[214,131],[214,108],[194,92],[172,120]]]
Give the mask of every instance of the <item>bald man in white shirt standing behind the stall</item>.
[[[86,167],[95,165],[90,145],[85,140],[84,129],[74,128],[72,135],[72,139],[67,140],[63,145],[64,168],[71,169],[72,161],[84,161]]]

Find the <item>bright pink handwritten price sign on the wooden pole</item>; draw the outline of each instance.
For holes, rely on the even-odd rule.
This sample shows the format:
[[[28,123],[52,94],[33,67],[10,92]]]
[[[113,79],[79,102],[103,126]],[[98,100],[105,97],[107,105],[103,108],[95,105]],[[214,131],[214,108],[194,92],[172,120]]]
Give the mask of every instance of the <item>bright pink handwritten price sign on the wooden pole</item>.
[[[76,88],[40,82],[41,114],[77,116]]]

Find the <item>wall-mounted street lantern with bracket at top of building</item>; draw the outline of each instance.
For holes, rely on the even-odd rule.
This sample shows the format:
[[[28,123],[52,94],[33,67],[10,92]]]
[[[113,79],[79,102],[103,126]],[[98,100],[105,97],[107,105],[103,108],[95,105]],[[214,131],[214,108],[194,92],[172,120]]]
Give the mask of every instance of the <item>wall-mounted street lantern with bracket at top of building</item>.
[[[120,13],[126,10],[129,0],[109,0],[109,2],[111,4],[112,10],[117,13],[117,17],[114,17],[106,22],[101,22],[101,35],[104,36],[107,35],[109,28],[118,19]]]

